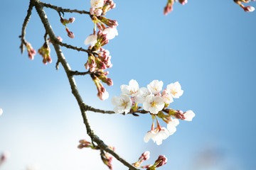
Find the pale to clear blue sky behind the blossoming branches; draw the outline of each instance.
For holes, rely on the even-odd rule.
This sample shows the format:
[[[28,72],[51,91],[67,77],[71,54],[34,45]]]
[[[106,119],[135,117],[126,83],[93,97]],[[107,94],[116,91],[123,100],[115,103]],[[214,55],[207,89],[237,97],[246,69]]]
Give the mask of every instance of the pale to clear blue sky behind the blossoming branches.
[[[90,8],[89,0],[45,2]],[[165,154],[169,162],[161,169],[255,169],[256,12],[245,13],[232,0],[188,0],[185,6],[175,4],[173,13],[164,16],[166,0],[114,2],[117,8],[107,17],[118,21],[119,35],[105,46],[114,64],[109,69],[114,81],[114,86],[107,87],[110,98],[118,96],[119,86],[130,79],[136,79],[141,87],[154,79],[164,81],[164,86],[179,81],[184,94],[171,108],[193,110],[196,118],[181,122],[174,135],[156,146],[143,141],[151,125],[149,115],[88,113],[97,135],[129,162],[146,150],[151,152],[149,164]],[[256,2],[250,4],[256,7]],[[26,169],[29,164],[48,170],[107,169],[100,162],[95,165],[100,159],[98,152],[76,148],[78,140],[89,137],[63,68],[55,70],[53,47],[52,64],[44,65],[40,55],[33,61],[27,52],[21,55],[18,35],[28,1],[3,1],[0,8],[0,108],[4,110],[0,152],[11,152],[1,170]],[[68,25],[75,33],[70,39],[58,13],[50,9],[46,13],[64,42],[85,47],[83,42],[93,27],[88,16],[65,13],[66,18],[76,18]],[[44,33],[33,10],[26,40],[38,50]],[[85,71],[86,53],[64,47],[63,52],[74,70]],[[114,108],[110,99],[102,102],[97,98],[90,77],[77,77],[76,81],[85,103]],[[197,163],[200,160],[205,164]],[[114,161],[114,169],[126,167]]]

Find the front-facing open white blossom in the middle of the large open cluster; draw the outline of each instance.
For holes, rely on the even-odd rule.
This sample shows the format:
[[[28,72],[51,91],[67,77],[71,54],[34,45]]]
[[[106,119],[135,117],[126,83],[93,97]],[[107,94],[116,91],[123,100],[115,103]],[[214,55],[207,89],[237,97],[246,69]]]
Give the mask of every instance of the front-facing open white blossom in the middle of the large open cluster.
[[[160,96],[149,95],[145,98],[143,108],[145,111],[157,114],[164,108],[164,101]]]

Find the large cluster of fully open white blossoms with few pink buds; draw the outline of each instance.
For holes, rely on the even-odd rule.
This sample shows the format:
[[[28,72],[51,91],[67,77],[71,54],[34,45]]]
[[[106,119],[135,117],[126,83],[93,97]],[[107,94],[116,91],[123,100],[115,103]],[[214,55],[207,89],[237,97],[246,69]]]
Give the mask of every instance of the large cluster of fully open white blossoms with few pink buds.
[[[112,98],[114,113],[150,113],[153,119],[151,130],[146,133],[144,142],[153,140],[156,145],[161,145],[162,140],[165,140],[170,135],[176,132],[176,126],[179,124],[178,119],[191,121],[195,116],[193,111],[175,111],[167,108],[170,103],[174,102],[174,98],[179,98],[183,94],[181,84],[168,84],[166,89],[163,89],[163,81],[151,81],[147,87],[139,88],[136,80],[129,81],[129,85],[122,85],[120,89],[122,94]],[[142,104],[142,106],[138,106]],[[140,110],[140,109],[144,110]],[[159,124],[158,118],[161,118],[167,127],[164,128]],[[156,128],[154,127],[154,120],[156,120]]]

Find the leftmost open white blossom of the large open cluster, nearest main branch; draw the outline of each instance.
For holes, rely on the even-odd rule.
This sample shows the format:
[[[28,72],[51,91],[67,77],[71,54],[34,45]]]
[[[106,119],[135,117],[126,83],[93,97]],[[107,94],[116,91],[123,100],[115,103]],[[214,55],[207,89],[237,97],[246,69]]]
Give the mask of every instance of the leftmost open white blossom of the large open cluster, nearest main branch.
[[[132,106],[132,100],[126,94],[121,94],[120,96],[114,96],[111,100],[112,104],[116,106],[114,108],[114,113],[129,113]]]

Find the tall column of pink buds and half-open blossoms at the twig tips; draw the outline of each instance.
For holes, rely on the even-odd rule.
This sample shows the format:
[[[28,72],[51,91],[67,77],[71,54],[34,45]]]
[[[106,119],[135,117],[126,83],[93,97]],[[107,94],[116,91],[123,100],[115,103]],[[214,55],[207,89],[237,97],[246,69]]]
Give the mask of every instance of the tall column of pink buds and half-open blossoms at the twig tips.
[[[92,72],[90,75],[97,87],[97,96],[104,101],[109,97],[109,94],[100,81],[108,86],[112,86],[113,81],[107,77],[109,72],[105,72],[105,69],[111,68],[112,64],[110,52],[105,50],[103,46],[118,35],[117,21],[105,18],[105,15],[116,5],[112,0],[91,0],[90,5],[90,14],[95,26],[93,33],[85,39],[85,45],[89,45],[88,50],[92,51],[88,54],[85,69]]]

